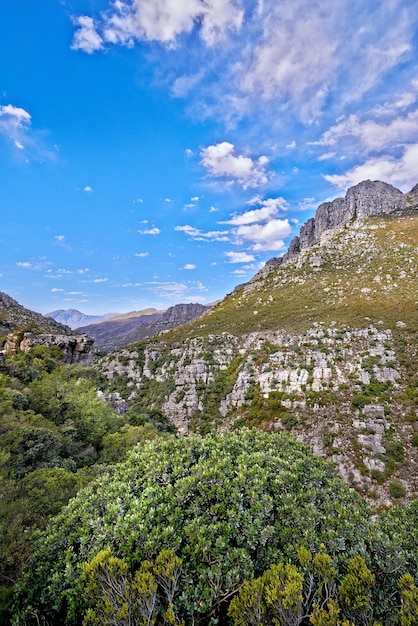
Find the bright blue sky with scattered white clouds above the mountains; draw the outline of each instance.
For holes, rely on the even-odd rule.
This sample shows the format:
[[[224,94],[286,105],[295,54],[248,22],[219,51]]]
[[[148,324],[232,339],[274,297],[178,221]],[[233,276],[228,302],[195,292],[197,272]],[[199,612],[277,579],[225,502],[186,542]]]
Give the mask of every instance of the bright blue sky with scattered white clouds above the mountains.
[[[361,180],[418,182],[415,0],[1,0],[0,290],[222,298]]]

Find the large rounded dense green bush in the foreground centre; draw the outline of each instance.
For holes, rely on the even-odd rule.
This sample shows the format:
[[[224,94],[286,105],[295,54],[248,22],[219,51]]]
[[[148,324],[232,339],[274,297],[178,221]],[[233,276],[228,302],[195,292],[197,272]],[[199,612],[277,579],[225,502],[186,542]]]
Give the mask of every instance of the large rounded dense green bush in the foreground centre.
[[[365,550],[369,526],[361,498],[286,434],[155,440],[56,518],[26,570],[16,624],[30,614],[80,624],[82,564],[106,548],[132,576],[174,550],[183,564],[179,618],[215,624],[245,579],[294,557],[297,545],[324,544],[342,566]]]

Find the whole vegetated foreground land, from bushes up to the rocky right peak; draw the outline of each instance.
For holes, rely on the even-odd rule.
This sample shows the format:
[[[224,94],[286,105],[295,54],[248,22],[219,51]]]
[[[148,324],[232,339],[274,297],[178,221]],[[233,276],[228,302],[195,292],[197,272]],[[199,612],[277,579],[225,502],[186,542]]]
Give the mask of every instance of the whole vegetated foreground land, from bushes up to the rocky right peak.
[[[94,367],[5,296],[0,624],[418,623],[416,195]]]

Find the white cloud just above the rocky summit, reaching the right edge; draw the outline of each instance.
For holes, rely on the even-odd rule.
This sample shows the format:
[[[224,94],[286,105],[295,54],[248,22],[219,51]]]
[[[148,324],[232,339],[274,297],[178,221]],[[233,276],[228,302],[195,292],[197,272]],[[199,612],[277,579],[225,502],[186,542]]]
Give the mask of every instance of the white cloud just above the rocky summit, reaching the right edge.
[[[409,191],[418,182],[418,143],[407,146],[399,159],[393,156],[375,156],[362,165],[356,165],[345,174],[326,175],[324,178],[340,189],[347,189],[363,180],[382,180]]]

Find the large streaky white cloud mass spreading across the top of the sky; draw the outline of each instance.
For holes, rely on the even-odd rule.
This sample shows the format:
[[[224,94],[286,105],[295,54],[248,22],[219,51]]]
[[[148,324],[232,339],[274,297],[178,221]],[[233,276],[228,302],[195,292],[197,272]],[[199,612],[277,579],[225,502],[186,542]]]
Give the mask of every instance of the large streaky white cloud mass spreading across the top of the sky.
[[[295,118],[316,123],[325,106],[341,112],[361,103],[389,71],[413,59],[415,50],[412,0],[108,0],[102,5],[107,9],[95,18],[74,20],[73,49],[92,53],[139,41],[166,44],[174,61],[163,80],[172,95],[191,98],[200,117],[227,121],[256,107],[269,128],[288,129]],[[209,55],[194,35],[213,46]],[[166,50],[156,50],[159,62]],[[158,73],[161,79],[160,63]],[[405,93],[397,106],[411,102]],[[293,149],[294,135],[281,145]]]

